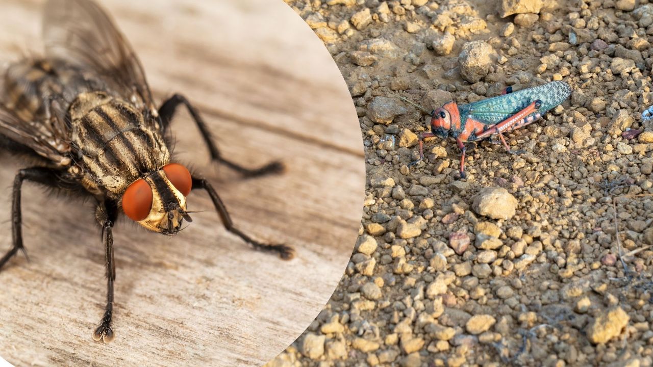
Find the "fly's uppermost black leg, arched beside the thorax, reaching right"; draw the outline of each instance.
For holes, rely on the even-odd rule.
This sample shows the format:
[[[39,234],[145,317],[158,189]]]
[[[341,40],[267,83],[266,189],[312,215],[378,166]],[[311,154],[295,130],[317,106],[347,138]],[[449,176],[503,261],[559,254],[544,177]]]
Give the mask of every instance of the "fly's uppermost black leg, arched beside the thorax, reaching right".
[[[183,97],[183,95],[180,94],[173,95],[161,105],[161,108],[159,108],[159,116],[161,116],[161,121],[163,122],[163,129],[168,128],[168,125],[170,125],[170,120],[172,120],[172,117],[174,116],[177,110],[177,106],[179,106],[180,104],[185,105],[186,108],[188,109],[188,112],[193,117],[193,120],[195,121],[197,128],[202,134],[202,138],[204,139],[204,144],[206,144],[209,152],[211,153],[212,160],[218,163],[223,163],[227,167],[231,168],[232,170],[235,170],[236,172],[239,172],[240,174],[246,177],[256,177],[256,176],[263,176],[265,174],[283,172],[284,169],[283,163],[279,161],[268,163],[267,165],[264,165],[263,167],[260,168],[251,169],[251,168],[242,167],[237,163],[225,159],[225,157],[220,155],[219,150],[217,150],[217,146],[215,145],[215,143],[211,138],[211,133],[208,130],[208,127],[206,127],[206,123],[204,123],[204,120],[202,120],[202,117],[200,116],[199,112],[197,111],[197,109],[195,109],[195,107],[193,107],[193,105],[185,97]]]

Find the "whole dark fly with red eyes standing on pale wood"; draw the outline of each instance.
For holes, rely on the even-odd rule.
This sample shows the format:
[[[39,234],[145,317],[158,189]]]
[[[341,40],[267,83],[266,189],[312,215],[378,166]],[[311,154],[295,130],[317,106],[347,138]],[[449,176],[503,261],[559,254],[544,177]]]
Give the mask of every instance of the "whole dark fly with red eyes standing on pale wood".
[[[176,94],[155,107],[135,52],[104,10],[91,0],[49,0],[43,25],[45,56],[25,59],[0,77],[0,144],[35,159],[14,178],[12,247],[0,268],[18,251],[22,236],[21,187],[25,181],[96,200],[102,228],[107,296],[93,339],[114,339],[113,227],[121,214],[146,229],[174,235],[191,222],[186,198],[205,190],[227,231],[255,249],[291,259],[292,247],[264,244],[240,231],[206,179],[174,160],[168,125],[185,106],[211,158],[247,177],[283,170],[279,162],[249,169],[223,157],[199,112]]]

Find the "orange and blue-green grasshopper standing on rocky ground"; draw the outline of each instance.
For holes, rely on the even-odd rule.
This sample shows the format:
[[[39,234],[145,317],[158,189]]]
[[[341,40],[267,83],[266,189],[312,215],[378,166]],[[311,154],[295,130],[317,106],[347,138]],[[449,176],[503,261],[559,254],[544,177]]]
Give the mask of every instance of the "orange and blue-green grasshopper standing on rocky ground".
[[[541,86],[512,91],[506,88],[502,95],[478,102],[458,106],[454,101],[445,103],[431,112],[431,131],[419,135],[419,159],[424,159],[424,138],[439,136],[456,139],[462,157],[460,178],[465,178],[466,142],[475,142],[499,136],[508,153],[513,151],[505,142],[503,133],[520,129],[541,118],[544,114],[562,104],[571,94],[565,82],[550,82]]]

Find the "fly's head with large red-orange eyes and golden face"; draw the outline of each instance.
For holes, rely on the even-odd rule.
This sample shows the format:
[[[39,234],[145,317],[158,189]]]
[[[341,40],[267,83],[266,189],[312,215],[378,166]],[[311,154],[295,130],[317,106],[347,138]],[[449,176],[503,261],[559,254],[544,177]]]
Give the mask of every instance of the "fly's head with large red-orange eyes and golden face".
[[[186,212],[192,185],[190,172],[170,163],[127,187],[122,197],[123,212],[150,231],[172,236],[182,229],[183,219],[192,221]]]

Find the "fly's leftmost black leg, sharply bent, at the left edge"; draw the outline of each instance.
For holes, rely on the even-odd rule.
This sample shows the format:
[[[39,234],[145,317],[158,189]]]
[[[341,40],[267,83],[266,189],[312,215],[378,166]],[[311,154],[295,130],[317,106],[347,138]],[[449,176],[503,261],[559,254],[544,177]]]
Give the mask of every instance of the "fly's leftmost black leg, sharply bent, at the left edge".
[[[23,168],[18,171],[14,178],[14,186],[12,189],[12,203],[11,203],[11,234],[12,234],[12,247],[0,258],[0,268],[2,268],[9,259],[14,257],[18,251],[22,251],[27,257],[27,251],[23,245],[23,215],[21,211],[21,191],[23,182],[31,181],[37,182],[42,185],[50,187],[67,187],[67,183],[61,181],[59,171],[46,167],[31,167]],[[27,257],[29,260],[29,257]]]

